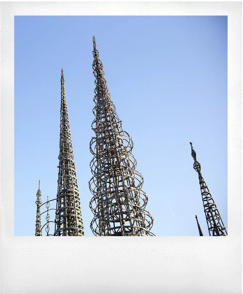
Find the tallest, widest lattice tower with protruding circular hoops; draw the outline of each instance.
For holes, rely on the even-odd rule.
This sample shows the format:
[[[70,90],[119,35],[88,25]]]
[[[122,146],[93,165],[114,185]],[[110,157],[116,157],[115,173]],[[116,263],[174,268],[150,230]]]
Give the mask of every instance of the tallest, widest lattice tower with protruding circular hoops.
[[[102,62],[93,37],[95,96],[90,151],[93,177],[89,182],[94,195],[90,208],[94,218],[91,230],[97,236],[149,236],[153,217],[145,210],[148,196],[141,188],[143,177],[135,170],[133,142],[122,129],[122,121],[111,101]]]

